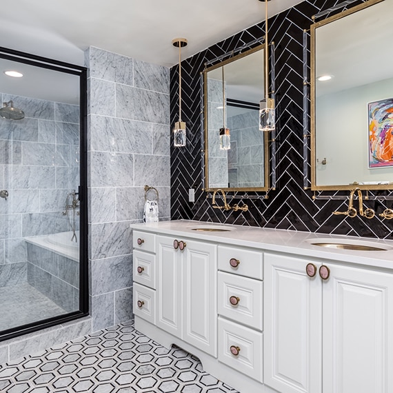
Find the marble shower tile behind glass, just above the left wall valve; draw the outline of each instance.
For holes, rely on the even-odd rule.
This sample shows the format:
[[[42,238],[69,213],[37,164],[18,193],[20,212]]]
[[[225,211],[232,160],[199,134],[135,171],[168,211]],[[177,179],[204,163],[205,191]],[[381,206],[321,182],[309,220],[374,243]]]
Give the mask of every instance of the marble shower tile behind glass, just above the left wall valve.
[[[10,165],[6,168],[4,186],[30,190],[54,188],[55,179],[54,167]]]

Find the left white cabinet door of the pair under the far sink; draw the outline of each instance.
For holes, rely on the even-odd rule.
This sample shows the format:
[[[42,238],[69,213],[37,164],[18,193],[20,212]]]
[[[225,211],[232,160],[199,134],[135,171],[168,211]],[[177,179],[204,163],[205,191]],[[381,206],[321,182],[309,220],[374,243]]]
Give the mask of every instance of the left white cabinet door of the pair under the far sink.
[[[157,326],[181,337],[181,252],[165,236],[157,236],[157,248]]]

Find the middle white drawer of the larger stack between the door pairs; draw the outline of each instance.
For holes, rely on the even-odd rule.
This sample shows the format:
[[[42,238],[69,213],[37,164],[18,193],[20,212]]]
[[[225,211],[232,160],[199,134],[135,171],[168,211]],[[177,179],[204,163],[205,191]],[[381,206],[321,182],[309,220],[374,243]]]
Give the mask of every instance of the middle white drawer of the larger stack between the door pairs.
[[[219,272],[218,310],[222,316],[263,330],[263,281]]]

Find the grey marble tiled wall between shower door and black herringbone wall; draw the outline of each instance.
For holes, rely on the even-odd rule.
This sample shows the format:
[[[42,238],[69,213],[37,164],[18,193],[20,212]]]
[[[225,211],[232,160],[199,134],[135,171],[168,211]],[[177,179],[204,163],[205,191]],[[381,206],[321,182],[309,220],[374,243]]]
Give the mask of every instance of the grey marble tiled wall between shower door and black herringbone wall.
[[[143,220],[144,185],[170,217],[169,69],[90,47],[89,236],[92,330],[132,318],[130,223]]]

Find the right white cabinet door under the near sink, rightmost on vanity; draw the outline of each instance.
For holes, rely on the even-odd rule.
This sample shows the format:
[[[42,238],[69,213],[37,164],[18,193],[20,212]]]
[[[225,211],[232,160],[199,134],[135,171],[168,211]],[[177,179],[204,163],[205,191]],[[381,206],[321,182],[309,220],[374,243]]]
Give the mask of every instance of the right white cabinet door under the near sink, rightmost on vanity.
[[[330,270],[323,283],[323,392],[393,392],[392,275]]]

